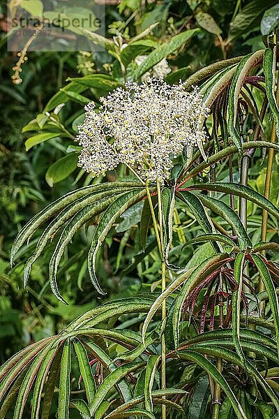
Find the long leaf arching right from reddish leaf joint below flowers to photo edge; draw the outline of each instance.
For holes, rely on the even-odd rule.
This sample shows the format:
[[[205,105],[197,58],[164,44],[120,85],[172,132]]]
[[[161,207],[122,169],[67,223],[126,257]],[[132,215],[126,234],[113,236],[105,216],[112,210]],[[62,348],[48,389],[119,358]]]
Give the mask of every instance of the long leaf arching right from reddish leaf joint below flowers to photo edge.
[[[269,214],[279,219],[279,210],[276,208],[270,200],[266,199],[260,193],[250,188],[249,186],[244,186],[241,184],[234,184],[230,182],[216,182],[216,183],[206,183],[206,184],[196,184],[187,186],[189,190],[204,190],[204,191],[216,191],[223,193],[231,193],[232,195],[239,196],[250,200],[252,203],[259,205],[264,210],[269,212]]]

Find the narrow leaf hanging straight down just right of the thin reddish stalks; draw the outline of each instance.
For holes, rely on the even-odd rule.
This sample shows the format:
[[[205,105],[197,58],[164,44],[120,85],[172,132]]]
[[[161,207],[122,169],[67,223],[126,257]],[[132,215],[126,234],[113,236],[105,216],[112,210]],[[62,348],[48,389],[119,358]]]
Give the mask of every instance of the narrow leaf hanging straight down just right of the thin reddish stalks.
[[[240,341],[240,315],[241,315],[241,293],[243,286],[243,269],[245,263],[245,254],[239,253],[236,256],[234,261],[234,279],[238,285],[238,289],[234,291],[232,295],[232,338],[234,345],[236,347],[236,353],[238,353],[239,358],[243,362],[243,365],[246,364],[245,356],[241,347]]]

